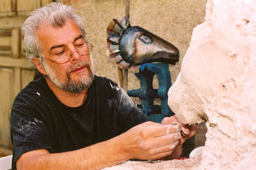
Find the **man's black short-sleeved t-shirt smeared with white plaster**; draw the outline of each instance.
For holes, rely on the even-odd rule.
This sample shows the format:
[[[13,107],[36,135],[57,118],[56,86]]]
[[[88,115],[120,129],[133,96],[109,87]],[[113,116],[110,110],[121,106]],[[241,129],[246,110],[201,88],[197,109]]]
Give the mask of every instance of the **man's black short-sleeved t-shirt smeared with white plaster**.
[[[20,155],[36,149],[61,153],[84,148],[126,132],[149,118],[119,85],[94,76],[83,105],[68,107],[54,95],[45,78],[27,85],[11,112],[13,170]]]

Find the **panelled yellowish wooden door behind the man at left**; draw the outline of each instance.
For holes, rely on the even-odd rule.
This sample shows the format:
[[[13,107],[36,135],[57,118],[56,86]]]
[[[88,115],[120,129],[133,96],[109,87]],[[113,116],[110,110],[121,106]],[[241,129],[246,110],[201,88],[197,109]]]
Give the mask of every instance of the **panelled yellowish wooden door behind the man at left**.
[[[0,0],[0,155],[12,154],[10,112],[15,96],[34,77],[20,26],[35,8],[52,0]]]

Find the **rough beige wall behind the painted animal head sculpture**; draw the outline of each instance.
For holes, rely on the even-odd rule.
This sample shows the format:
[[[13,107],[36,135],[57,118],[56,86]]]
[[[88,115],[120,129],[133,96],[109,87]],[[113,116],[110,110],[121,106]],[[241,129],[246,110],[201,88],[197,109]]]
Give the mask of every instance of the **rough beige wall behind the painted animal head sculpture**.
[[[125,0],[71,0],[71,4],[85,17],[85,30],[94,44],[95,74],[119,83],[117,66],[106,57],[106,28],[112,19],[125,16]],[[179,49],[179,62],[170,65],[173,82],[193,28],[204,22],[205,4],[206,0],[130,0],[131,26],[141,26]],[[137,67],[129,69],[128,90],[139,88],[135,72],[138,72]],[[154,87],[158,87],[157,81]]]

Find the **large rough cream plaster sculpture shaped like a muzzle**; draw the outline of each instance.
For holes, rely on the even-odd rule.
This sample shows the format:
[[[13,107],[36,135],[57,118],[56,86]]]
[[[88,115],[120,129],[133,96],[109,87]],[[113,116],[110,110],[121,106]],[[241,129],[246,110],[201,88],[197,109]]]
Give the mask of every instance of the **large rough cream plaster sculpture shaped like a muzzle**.
[[[208,0],[168,95],[181,122],[206,121],[201,170],[255,169],[256,0]]]

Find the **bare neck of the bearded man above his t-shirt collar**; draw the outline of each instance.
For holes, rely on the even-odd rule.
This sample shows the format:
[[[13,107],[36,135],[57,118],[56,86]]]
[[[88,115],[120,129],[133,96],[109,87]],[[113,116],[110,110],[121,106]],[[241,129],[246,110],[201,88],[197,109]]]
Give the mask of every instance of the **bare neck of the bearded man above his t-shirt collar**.
[[[63,104],[69,107],[78,107],[85,102],[85,99],[87,97],[87,89],[85,89],[81,93],[68,93],[66,91],[60,90],[60,88],[52,83],[48,77],[45,77],[45,79],[52,92]]]

